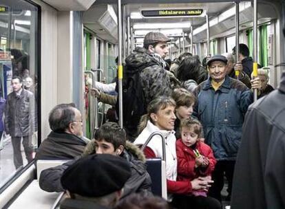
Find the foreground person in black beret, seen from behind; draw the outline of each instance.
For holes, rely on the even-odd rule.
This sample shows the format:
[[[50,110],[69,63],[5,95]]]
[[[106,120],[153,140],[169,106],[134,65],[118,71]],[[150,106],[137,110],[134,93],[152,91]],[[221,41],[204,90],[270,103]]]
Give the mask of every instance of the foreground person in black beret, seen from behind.
[[[83,157],[61,177],[69,195],[61,203],[61,209],[113,208],[130,176],[129,163],[121,157],[109,154]]]

